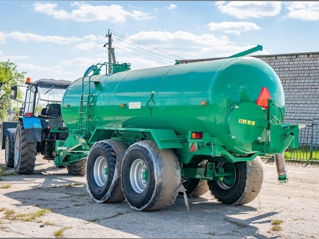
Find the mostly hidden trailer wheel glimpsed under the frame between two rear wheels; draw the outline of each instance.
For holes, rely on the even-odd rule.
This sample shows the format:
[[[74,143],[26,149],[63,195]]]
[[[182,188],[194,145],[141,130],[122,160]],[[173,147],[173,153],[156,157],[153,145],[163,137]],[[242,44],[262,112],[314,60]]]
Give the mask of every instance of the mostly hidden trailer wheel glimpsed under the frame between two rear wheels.
[[[207,180],[182,178],[182,184],[189,198],[196,198],[208,192]],[[178,193],[182,196],[183,193]]]

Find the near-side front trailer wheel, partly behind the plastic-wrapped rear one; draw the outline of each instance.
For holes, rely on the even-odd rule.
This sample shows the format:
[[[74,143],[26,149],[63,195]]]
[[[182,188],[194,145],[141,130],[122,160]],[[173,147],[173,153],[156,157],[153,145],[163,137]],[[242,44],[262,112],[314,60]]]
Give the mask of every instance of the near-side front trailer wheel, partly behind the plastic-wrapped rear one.
[[[124,143],[108,139],[94,143],[87,157],[87,191],[96,202],[125,200],[120,184]]]

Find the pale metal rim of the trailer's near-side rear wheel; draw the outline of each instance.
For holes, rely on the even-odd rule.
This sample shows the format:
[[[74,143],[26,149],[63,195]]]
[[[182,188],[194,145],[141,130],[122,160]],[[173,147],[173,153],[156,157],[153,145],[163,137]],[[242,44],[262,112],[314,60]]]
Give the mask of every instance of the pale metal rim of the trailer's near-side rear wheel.
[[[149,170],[143,160],[137,159],[132,163],[130,168],[130,183],[137,193],[142,193],[149,180]]]

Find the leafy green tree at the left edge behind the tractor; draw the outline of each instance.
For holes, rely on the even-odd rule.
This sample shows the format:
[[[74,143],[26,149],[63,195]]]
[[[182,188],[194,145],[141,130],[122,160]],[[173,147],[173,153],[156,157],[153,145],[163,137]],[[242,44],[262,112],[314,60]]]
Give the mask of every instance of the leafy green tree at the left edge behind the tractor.
[[[17,65],[10,60],[0,62],[0,119],[8,113],[11,108],[11,86],[23,84],[25,74],[27,72],[18,72]],[[21,98],[22,93],[18,89],[18,98]]]

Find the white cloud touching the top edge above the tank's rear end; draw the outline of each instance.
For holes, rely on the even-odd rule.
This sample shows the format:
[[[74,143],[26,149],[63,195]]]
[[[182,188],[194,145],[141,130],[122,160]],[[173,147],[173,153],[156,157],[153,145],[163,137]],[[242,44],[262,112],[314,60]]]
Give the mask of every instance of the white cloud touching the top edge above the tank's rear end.
[[[215,6],[236,18],[265,18],[278,15],[281,4],[281,1],[217,1]]]

